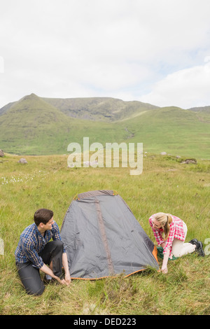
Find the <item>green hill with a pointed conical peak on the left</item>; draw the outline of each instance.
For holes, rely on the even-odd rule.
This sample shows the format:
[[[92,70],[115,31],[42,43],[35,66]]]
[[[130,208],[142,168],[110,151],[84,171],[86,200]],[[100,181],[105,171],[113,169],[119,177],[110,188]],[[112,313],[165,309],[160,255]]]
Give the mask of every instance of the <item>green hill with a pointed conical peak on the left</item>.
[[[72,141],[82,144],[83,136],[104,142],[105,136],[120,141],[123,134],[109,123],[66,116],[36,95],[25,97],[0,116],[1,148],[15,154],[62,154]]]

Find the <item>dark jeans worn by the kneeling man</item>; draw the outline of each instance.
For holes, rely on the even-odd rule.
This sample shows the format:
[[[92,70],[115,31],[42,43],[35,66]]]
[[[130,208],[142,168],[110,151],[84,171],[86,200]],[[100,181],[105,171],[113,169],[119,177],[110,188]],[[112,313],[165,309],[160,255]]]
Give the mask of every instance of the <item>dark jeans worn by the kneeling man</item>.
[[[62,276],[62,253],[64,244],[60,240],[50,241],[45,245],[41,253],[43,262],[50,265],[52,261],[52,272],[61,278]],[[33,266],[32,262],[16,262],[18,274],[29,295],[41,295],[45,288],[39,269]]]

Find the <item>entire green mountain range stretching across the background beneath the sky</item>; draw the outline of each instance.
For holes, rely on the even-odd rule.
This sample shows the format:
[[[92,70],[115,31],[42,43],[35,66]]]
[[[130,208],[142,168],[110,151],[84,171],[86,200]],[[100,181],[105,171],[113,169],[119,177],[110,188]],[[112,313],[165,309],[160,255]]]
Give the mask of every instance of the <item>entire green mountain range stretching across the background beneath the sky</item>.
[[[0,148],[7,153],[66,153],[83,137],[143,143],[144,151],[210,158],[209,107],[160,108],[110,97],[50,99],[30,94],[0,109]],[[81,150],[83,151],[83,150]]]

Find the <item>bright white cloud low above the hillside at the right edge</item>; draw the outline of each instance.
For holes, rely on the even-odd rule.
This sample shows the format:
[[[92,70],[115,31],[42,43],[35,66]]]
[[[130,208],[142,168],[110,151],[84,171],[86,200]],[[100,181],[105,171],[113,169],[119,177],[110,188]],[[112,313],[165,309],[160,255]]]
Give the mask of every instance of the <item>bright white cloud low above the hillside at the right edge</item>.
[[[152,92],[141,97],[142,102],[158,106],[179,106],[190,109],[208,106],[210,87],[210,62],[174,72],[155,83]]]

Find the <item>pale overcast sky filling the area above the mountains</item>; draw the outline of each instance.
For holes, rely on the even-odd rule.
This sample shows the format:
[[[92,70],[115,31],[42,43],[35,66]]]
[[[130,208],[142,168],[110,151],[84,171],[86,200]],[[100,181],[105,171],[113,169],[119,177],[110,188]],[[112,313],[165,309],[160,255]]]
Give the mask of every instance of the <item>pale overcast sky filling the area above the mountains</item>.
[[[0,109],[39,97],[210,106],[209,0],[0,0]]]

